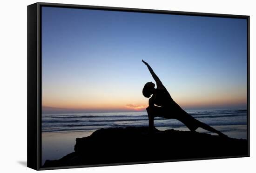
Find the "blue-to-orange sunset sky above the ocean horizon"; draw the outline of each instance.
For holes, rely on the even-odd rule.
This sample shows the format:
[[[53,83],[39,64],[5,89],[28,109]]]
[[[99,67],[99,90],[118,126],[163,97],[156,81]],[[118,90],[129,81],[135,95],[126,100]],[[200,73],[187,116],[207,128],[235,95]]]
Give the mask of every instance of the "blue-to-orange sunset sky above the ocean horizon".
[[[244,108],[246,19],[42,7],[43,113],[143,111],[145,60],[183,109]]]

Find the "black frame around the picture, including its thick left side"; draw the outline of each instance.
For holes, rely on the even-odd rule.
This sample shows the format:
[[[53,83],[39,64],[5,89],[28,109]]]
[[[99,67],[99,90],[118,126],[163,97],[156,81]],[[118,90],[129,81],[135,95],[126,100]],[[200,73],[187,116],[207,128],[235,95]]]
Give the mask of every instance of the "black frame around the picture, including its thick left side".
[[[67,167],[42,167],[41,166],[41,7],[63,7],[63,8],[79,8],[79,9],[94,9],[108,11],[125,11],[139,13],[162,13],[162,14],[179,14],[191,16],[208,16],[220,18],[236,18],[247,20],[247,140],[248,154],[230,156],[230,157],[209,157],[209,158],[194,158],[181,160],[161,160],[150,162],[132,162],[132,163],[116,163],[116,164],[101,164],[101,165],[82,165],[82,166],[67,166]],[[221,159],[235,157],[249,157],[249,115],[250,115],[250,99],[249,99],[249,16],[246,15],[230,15],[230,14],[214,14],[214,13],[194,13],[194,12],[178,12],[166,10],[152,9],[136,9],[136,8],[121,8],[107,6],[85,6],[73,4],[56,4],[56,3],[34,3],[27,6],[27,167],[35,170],[61,169],[61,168],[78,168],[78,167],[99,167],[99,166],[115,166],[125,164],[139,163],[157,163],[170,161],[184,160],[205,160],[205,159]]]

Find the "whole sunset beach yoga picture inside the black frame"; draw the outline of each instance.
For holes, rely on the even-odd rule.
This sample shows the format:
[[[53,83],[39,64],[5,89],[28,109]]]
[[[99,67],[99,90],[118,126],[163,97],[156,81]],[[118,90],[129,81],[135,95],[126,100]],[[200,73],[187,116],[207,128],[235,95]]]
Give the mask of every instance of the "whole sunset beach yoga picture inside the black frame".
[[[42,6],[41,166],[248,155],[247,20]]]

